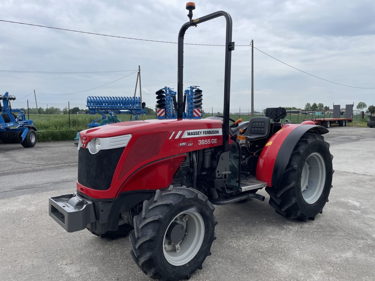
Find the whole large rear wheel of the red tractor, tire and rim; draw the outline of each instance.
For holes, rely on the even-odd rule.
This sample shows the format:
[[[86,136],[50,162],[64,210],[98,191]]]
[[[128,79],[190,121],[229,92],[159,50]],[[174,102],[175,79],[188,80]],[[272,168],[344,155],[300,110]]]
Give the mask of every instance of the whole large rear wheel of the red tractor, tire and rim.
[[[288,218],[314,220],[328,202],[332,158],[323,136],[306,133],[297,142],[279,187],[266,187],[270,205]]]

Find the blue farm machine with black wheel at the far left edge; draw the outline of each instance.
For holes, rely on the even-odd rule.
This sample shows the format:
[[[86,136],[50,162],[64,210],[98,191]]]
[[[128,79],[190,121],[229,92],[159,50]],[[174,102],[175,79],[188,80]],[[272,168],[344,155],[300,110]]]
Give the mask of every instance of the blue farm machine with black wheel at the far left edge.
[[[23,147],[36,144],[36,127],[32,120],[26,120],[23,109],[12,109],[10,101],[15,100],[8,92],[0,95],[0,143],[21,143]],[[16,114],[18,114],[18,116]]]

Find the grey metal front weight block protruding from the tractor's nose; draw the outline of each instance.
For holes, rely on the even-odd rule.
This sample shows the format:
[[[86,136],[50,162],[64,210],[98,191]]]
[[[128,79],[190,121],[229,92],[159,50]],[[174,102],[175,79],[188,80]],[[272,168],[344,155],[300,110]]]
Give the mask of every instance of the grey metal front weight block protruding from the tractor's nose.
[[[49,197],[48,214],[67,232],[75,232],[95,222],[93,202],[75,193]]]

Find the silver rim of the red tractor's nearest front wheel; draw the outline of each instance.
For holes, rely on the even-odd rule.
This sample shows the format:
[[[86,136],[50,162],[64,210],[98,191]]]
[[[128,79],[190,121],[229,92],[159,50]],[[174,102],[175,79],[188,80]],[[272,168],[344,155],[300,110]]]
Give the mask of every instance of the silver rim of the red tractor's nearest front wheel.
[[[183,219],[185,215],[188,216],[186,221]],[[185,227],[185,236],[178,245],[172,244],[165,237],[169,226],[174,221]],[[174,266],[181,266],[190,262],[201,248],[204,238],[204,221],[201,215],[193,210],[183,211],[174,217],[166,229],[162,247],[167,262]],[[175,250],[176,247],[180,248],[178,252]]]

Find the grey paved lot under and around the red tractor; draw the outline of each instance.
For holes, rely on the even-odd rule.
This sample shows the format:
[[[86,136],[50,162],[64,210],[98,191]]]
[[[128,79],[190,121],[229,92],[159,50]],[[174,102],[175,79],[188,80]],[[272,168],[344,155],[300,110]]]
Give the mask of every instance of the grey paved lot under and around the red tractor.
[[[315,221],[287,220],[265,202],[217,206],[212,256],[191,280],[375,280],[375,129],[331,127],[336,170]],[[0,145],[0,280],[150,280],[127,238],[66,233],[48,197],[75,189],[72,142]]]

